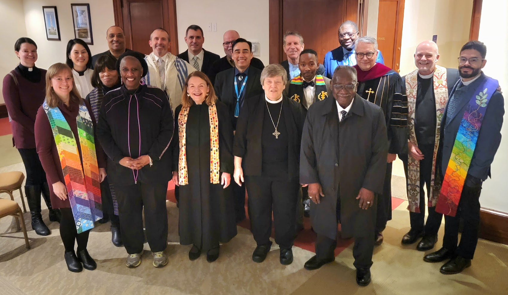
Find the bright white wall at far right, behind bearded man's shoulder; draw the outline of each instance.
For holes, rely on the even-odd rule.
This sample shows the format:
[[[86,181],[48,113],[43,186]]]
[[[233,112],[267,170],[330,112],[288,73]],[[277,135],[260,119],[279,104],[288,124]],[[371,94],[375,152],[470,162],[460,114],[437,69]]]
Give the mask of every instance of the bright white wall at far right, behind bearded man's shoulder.
[[[499,81],[504,93],[508,93],[508,1],[483,0],[480,21],[480,41],[487,46],[487,64],[484,72]],[[480,203],[482,207],[508,212],[506,193],[506,167],[508,167],[508,115],[506,94],[504,94],[504,121],[501,129],[501,145],[492,163],[492,179],[484,182]]]

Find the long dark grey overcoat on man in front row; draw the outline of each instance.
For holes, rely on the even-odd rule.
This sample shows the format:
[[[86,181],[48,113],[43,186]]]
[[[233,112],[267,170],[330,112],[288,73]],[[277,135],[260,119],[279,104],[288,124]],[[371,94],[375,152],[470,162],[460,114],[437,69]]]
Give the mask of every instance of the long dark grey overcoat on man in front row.
[[[340,123],[335,99],[310,106],[302,133],[300,182],[323,187],[321,203],[310,203],[317,234],[336,238],[339,197],[342,237],[372,236],[377,197],[367,210],[359,207],[356,197],[361,188],[383,193],[387,138],[383,110],[359,95]]]

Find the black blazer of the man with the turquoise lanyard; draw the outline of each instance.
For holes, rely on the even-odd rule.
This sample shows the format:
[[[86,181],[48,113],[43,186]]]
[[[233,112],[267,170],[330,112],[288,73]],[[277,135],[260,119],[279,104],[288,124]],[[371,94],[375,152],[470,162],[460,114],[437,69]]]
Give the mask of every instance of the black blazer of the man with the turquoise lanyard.
[[[235,107],[236,107],[236,92],[235,92],[235,68],[232,67],[225,71],[221,71],[217,74],[215,78],[215,83],[213,89],[215,90],[215,94],[218,99],[222,101],[229,109],[229,115],[231,117],[231,123],[233,125],[233,130],[236,129],[236,121],[235,118]],[[259,94],[265,93],[263,91],[263,87],[261,86],[261,70],[249,66],[247,85],[245,85],[245,96],[243,105],[245,105],[245,101],[250,99],[252,96],[256,96]],[[241,113],[241,112],[240,112]]]

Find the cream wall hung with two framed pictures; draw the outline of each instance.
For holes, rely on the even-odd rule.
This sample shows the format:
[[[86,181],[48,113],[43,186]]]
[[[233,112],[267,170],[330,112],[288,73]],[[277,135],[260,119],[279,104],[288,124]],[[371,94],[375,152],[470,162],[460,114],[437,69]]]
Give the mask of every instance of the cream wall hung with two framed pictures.
[[[11,1],[11,0],[7,0]],[[12,0],[14,2],[14,0]],[[18,0],[21,2],[20,0]],[[115,24],[113,16],[113,2],[111,0],[72,1],[74,3],[88,3],[90,5],[90,20],[92,23],[93,45],[89,45],[93,54],[108,50],[106,30]],[[67,42],[74,39],[74,29],[69,0],[24,0],[24,21],[26,34],[38,46],[39,58],[36,65],[48,68],[56,62],[65,62]],[[61,41],[46,40],[43,6],[56,6]],[[19,22],[19,21],[18,21]]]

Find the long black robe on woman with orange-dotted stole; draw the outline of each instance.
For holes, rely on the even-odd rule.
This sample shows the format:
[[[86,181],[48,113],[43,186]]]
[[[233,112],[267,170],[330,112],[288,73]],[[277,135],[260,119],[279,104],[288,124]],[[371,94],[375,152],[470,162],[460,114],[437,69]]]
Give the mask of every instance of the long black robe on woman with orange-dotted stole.
[[[233,129],[228,109],[216,102],[219,127],[220,177],[230,173],[233,180]],[[178,171],[179,138],[178,115],[175,110],[173,136],[173,171]],[[223,189],[210,183],[210,123],[208,105],[190,106],[185,129],[188,185],[180,186],[178,233],[180,244],[194,244],[203,251],[218,247],[236,236],[235,209],[231,185]]]

